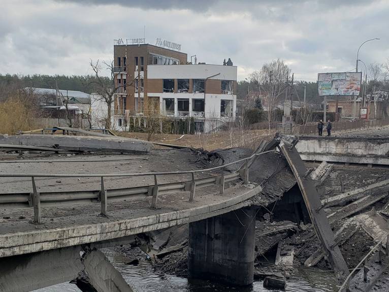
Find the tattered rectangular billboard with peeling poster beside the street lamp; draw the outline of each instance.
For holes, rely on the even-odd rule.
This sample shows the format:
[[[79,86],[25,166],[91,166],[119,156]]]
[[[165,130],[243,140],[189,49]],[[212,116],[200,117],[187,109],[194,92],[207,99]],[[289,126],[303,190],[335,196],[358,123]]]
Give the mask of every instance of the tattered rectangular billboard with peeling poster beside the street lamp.
[[[319,95],[359,95],[362,72],[319,73]]]

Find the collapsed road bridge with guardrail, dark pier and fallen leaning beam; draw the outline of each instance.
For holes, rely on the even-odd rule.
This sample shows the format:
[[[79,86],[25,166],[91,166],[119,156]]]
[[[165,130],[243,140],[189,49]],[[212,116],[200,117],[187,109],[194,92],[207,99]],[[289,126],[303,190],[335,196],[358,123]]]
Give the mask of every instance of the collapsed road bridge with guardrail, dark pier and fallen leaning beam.
[[[293,214],[295,220],[308,219],[314,223],[331,265],[337,273],[348,274],[322,209],[317,185],[313,184],[296,152],[295,143],[293,140],[276,138],[262,143],[254,153],[244,149],[222,150],[217,152],[216,160],[208,159],[208,153],[205,162],[204,155],[200,153],[199,157],[199,151],[161,150],[165,161],[158,160],[155,153],[146,160],[146,164],[146,161],[142,161],[142,165],[147,165],[153,172],[145,172],[142,167],[133,173],[96,175],[2,173],[0,176],[6,178],[4,183],[13,186],[13,191],[0,195],[0,203],[6,208],[8,217],[12,218],[6,221],[9,226],[3,224],[0,228],[4,287],[12,290],[13,285],[18,285],[20,290],[28,290],[73,279],[77,276],[78,269],[74,267],[79,267],[77,254],[80,250],[123,244],[134,234],[183,223],[190,223],[191,277],[249,284],[253,273],[255,216],[262,207],[277,201],[280,208],[285,208],[287,205],[283,204],[290,204],[290,201],[293,206],[300,206],[301,211]],[[172,160],[169,160],[169,155]],[[174,163],[176,159],[181,161],[182,157],[196,161],[196,168],[200,169],[157,171],[158,167],[167,169],[167,159]],[[157,164],[150,163],[150,158],[155,159]],[[210,160],[212,165],[209,165]],[[203,163],[201,167],[199,162]],[[190,164],[187,166],[193,167]],[[133,164],[131,169],[134,169]],[[147,180],[139,179],[143,177],[147,177]],[[77,190],[52,191],[59,188],[51,185],[52,180],[58,178]],[[73,178],[85,181],[74,184],[70,182]],[[33,187],[32,181],[35,184]],[[86,187],[83,186],[84,182]],[[296,182],[300,191],[293,191]],[[117,184],[127,184],[127,187],[117,188]],[[284,197],[295,199],[283,200]],[[234,211],[242,208],[247,216],[237,220]],[[18,214],[23,215],[18,217]],[[306,218],[302,218],[304,214]],[[38,224],[30,224],[28,219],[16,220],[20,217],[33,219]],[[231,245],[237,248],[232,251],[228,248]],[[42,258],[57,258],[64,249],[73,254],[69,257],[69,254],[63,253],[74,259],[68,263],[68,269],[58,262],[41,261]],[[41,263],[47,269],[61,270],[62,276],[58,278],[52,275],[45,281],[34,281],[31,279],[35,278],[31,267],[13,271],[6,268],[10,261],[15,261],[15,257],[20,263]],[[31,258],[36,258],[36,262]],[[239,273],[236,272],[237,268]],[[25,281],[10,282],[13,276]]]

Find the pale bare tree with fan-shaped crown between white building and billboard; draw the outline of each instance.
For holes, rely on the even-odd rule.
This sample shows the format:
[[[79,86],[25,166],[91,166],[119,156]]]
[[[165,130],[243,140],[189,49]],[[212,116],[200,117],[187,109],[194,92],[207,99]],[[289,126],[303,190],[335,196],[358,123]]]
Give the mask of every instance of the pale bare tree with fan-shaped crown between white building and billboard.
[[[266,96],[269,130],[274,120],[273,112],[281,100],[281,95],[287,86],[285,81],[289,76],[290,69],[281,59],[265,63],[261,71],[254,71],[249,75],[251,81],[257,84],[260,92]]]

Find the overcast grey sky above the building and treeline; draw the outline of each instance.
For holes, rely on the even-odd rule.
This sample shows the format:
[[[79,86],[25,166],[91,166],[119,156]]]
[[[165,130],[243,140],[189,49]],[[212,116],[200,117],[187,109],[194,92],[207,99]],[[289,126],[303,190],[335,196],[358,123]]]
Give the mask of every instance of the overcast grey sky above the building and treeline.
[[[113,58],[113,40],[181,44],[198,61],[229,57],[242,80],[281,58],[297,80],[389,57],[389,1],[0,0],[0,74],[91,74]],[[360,68],[364,66],[360,63]]]

